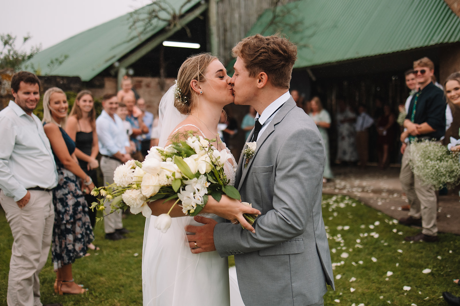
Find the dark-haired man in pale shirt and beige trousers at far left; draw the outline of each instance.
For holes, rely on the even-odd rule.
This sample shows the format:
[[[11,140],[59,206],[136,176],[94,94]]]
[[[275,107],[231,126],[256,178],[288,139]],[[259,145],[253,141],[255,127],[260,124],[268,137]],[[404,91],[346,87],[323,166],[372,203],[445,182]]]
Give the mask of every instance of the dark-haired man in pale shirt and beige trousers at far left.
[[[0,203],[14,239],[6,301],[41,306],[38,275],[51,245],[56,163],[43,125],[32,113],[40,100],[40,80],[17,72],[11,93],[14,102],[0,111]]]

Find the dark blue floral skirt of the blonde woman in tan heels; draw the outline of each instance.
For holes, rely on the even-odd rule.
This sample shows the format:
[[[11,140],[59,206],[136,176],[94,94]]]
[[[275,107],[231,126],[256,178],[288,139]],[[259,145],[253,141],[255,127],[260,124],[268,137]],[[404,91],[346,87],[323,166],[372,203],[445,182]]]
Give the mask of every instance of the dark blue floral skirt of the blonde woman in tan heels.
[[[57,165],[58,182],[53,189],[54,228],[52,260],[54,270],[85,256],[86,247],[94,240],[88,217],[88,204],[80,189],[80,178]]]

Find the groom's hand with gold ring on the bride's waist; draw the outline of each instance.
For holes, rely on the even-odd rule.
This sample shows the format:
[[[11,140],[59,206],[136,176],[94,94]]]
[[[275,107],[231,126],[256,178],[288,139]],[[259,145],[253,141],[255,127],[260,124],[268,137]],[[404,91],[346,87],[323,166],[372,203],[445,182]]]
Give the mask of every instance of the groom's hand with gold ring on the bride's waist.
[[[212,252],[216,250],[214,245],[214,227],[217,221],[210,218],[195,216],[195,221],[203,223],[203,226],[187,225],[186,232],[195,233],[188,234],[189,247],[192,253],[198,254],[201,252]]]

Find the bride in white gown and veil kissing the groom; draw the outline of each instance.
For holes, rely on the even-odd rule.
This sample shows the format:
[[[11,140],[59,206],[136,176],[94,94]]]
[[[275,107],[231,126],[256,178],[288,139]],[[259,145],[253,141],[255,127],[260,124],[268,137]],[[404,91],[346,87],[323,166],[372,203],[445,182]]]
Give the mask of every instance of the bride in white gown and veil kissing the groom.
[[[217,130],[220,114],[222,108],[233,100],[230,77],[217,57],[210,54],[189,57],[179,69],[176,85],[161,99],[159,146],[168,145],[171,135],[189,131],[207,139],[220,140]],[[213,142],[213,146],[230,153],[220,141]],[[230,184],[234,184],[236,161],[233,156],[225,162],[224,172]],[[237,286],[229,289],[227,258],[221,258],[217,251],[190,252],[184,227],[200,226],[201,223],[194,221],[193,217],[184,217],[181,208],[175,206],[170,213],[173,222],[166,233],[153,226],[155,216],[166,213],[173,202],[163,204],[163,200],[156,200],[149,204],[154,216],[146,219],[144,229],[144,306],[229,306],[230,295],[232,306],[235,305],[234,299],[241,301],[241,297]],[[224,218],[233,223],[239,221],[251,231],[253,227],[242,214],[259,213],[236,200],[232,201],[232,205],[224,205],[211,196],[201,212],[201,216],[218,222],[224,222]],[[243,305],[242,301],[240,305]]]

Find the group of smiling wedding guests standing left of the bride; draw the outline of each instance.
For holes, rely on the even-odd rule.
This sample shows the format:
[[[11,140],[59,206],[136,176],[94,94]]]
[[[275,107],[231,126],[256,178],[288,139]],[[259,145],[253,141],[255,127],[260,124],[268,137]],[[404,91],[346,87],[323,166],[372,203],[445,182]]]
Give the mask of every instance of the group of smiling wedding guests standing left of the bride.
[[[13,236],[8,305],[42,305],[38,275],[50,246],[55,292],[87,291],[75,283],[72,264],[89,255],[88,249],[99,250],[92,244],[96,211],[90,209],[97,200],[90,194],[98,184],[97,169],[110,184],[116,167],[133,157],[143,161],[150,143],[157,142],[154,115],[130,78],[118,95],[104,95],[97,119],[90,91],[78,93],[68,115],[66,94],[52,87],[43,96],[40,122],[33,113],[40,86],[34,74],[17,72],[11,79],[14,101],[0,111],[0,204]],[[116,212],[104,217],[104,230],[112,240],[129,232]]]

